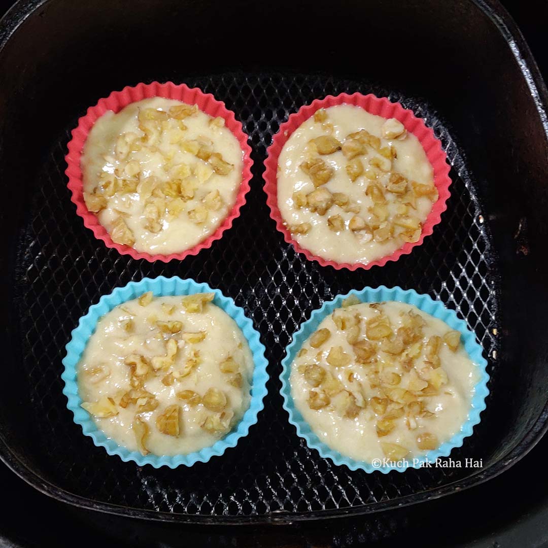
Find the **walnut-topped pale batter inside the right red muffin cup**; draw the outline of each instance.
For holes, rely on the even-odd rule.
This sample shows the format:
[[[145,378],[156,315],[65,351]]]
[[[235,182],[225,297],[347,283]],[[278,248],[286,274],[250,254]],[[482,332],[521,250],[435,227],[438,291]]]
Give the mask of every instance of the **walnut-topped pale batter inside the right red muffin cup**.
[[[277,195],[300,246],[351,264],[418,241],[437,200],[419,140],[353,105],[319,110],[293,132],[279,155]]]

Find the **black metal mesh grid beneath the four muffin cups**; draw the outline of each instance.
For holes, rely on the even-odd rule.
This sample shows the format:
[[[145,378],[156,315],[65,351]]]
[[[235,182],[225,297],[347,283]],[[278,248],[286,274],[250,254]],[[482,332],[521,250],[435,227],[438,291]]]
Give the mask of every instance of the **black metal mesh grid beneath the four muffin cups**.
[[[120,256],[96,241],[70,203],[63,174],[69,130],[76,117],[44,158],[37,176],[15,284],[20,295],[22,366],[35,415],[36,432],[29,443],[56,484],[93,501],[141,510],[266,517],[358,505],[374,510],[377,503],[397,504],[402,496],[469,476],[471,470],[464,468],[368,475],[334,466],[296,436],[278,392],[279,363],[291,334],[324,300],[352,288],[385,284],[429,293],[466,319],[489,357],[496,351],[500,338],[496,340],[492,330],[498,327],[498,291],[487,222],[458,147],[436,113],[423,101],[330,77],[230,74],[185,82],[225,101],[241,119],[253,146],[248,203],[211,249],[182,262],[150,264]],[[262,161],[279,124],[301,105],[343,91],[373,92],[402,102],[434,128],[452,164],[448,211],[433,235],[396,263],[363,272],[323,268],[296,255],[275,230],[262,192]],[[158,275],[192,277],[232,296],[253,318],[270,362],[269,395],[258,424],[236,448],[191,469],[155,470],[108,456],[73,424],[61,393],[61,358],[78,318],[113,287]],[[490,362],[492,399],[496,376]],[[487,460],[495,447],[489,433],[492,423],[488,402],[475,436],[467,438],[452,457]]]

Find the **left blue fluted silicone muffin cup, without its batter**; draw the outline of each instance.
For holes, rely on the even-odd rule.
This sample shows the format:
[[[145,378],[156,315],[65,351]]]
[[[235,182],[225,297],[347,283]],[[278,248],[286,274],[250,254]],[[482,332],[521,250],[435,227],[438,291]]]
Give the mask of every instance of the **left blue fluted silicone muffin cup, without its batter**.
[[[254,370],[251,381],[251,402],[248,410],[235,430],[215,442],[213,446],[205,447],[195,453],[159,456],[153,454],[141,455],[139,452],[130,451],[125,447],[118,446],[113,439],[107,438],[104,432],[98,429],[90,414],[80,407],[82,398],[78,395],[77,364],[89,337],[95,332],[97,322],[115,306],[135,299],[147,291],[152,291],[155,296],[214,293],[213,304],[219,306],[236,322],[246,337],[253,354]],[[249,427],[257,422],[257,415],[264,407],[262,400],[266,396],[266,381],[269,376],[266,372],[268,362],[264,355],[265,347],[259,340],[259,333],[253,328],[253,322],[244,315],[243,309],[236,306],[230,297],[225,297],[219,289],[210,288],[207,283],[196,283],[192,279],[159,276],[154,279],[143,278],[140,282],[129,282],[127,286],[118,287],[110,295],[103,295],[99,302],[90,306],[88,313],[80,318],[78,327],[73,330],[72,338],[66,345],[66,351],[67,355],[62,361],[65,370],[61,378],[65,381],[63,393],[68,398],[67,407],[74,414],[75,423],[82,426],[83,433],[91,437],[96,446],[104,447],[109,455],[118,455],[126,462],[133,460],[139,466],[150,464],[155,468],[160,466],[175,468],[181,464],[192,466],[197,462],[206,463],[212,456],[222,455],[225,449],[235,447],[239,438],[247,436]]]

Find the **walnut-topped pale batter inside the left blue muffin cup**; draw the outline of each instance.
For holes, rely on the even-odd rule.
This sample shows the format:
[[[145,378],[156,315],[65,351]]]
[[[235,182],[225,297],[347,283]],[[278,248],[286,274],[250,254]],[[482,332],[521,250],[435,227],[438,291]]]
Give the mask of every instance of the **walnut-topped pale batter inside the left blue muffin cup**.
[[[120,446],[155,455],[191,453],[212,446],[246,412],[252,354],[236,322],[208,301],[212,296],[158,297],[147,304],[151,294],[145,294],[144,306],[128,301],[100,319],[78,364],[78,390],[82,407]],[[166,410],[178,435],[158,424]],[[136,418],[146,425],[144,439]]]

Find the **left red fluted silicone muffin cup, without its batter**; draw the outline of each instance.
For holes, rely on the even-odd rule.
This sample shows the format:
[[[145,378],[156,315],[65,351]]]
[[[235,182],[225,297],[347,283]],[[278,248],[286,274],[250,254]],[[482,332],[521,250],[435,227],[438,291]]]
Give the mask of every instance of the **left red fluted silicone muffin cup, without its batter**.
[[[100,224],[97,216],[88,211],[83,196],[80,158],[85,140],[95,121],[108,110],[116,113],[132,102],[150,97],[175,99],[190,105],[197,105],[201,111],[209,116],[221,116],[225,119],[226,127],[229,128],[236,139],[238,139],[243,152],[242,182],[240,183],[232,210],[212,235],[207,236],[192,248],[169,255],[150,255],[149,253],[139,252],[132,247],[122,246],[121,244],[113,242],[105,227]],[[222,233],[225,230],[230,229],[232,221],[239,215],[240,208],[246,202],[246,193],[249,191],[249,181],[252,176],[252,160],[250,158],[250,153],[251,148],[247,144],[247,135],[243,132],[242,124],[237,121],[234,113],[225,107],[224,102],[216,100],[210,93],[203,93],[198,88],[189,88],[185,84],[176,85],[172,82],[166,82],[164,84],[152,82],[151,84],[138,84],[135,87],[128,86],[122,89],[121,92],[112,92],[108,97],[100,99],[95,106],[89,107],[86,115],[78,120],[77,127],[72,130],[72,139],[68,143],[68,154],[65,157],[67,163],[65,173],[68,176],[68,188],[72,192],[71,200],[76,204],[76,213],[84,220],[84,226],[91,229],[96,238],[105,242],[106,247],[112,247],[116,249],[118,253],[130,255],[134,259],[145,259],[150,262],[168,262],[172,259],[181,260],[188,255],[196,255],[201,249],[211,247],[215,240],[221,238]]]

